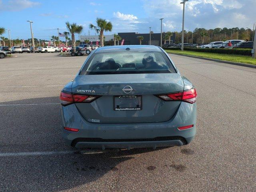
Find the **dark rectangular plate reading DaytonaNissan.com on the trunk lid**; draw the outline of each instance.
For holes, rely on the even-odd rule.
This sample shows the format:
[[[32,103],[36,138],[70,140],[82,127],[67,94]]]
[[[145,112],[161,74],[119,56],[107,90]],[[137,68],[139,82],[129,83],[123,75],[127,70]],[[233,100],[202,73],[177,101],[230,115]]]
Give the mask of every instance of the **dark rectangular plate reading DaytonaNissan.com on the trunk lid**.
[[[141,95],[121,95],[114,96],[114,110],[142,110],[142,96]]]

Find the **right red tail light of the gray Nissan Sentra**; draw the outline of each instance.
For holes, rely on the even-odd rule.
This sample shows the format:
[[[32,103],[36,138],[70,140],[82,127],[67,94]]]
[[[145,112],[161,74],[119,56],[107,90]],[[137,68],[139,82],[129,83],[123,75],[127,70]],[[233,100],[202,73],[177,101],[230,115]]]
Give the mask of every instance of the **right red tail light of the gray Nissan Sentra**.
[[[170,93],[165,95],[157,95],[159,98],[165,101],[184,101],[188,103],[196,102],[196,89],[192,88],[189,90],[184,90],[182,92]]]

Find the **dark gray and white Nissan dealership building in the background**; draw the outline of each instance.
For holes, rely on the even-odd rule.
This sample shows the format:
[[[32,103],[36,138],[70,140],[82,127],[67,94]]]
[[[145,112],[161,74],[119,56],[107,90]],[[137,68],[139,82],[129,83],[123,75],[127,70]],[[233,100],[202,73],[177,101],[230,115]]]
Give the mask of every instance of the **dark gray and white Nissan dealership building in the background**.
[[[130,32],[130,33],[118,33],[118,35],[124,39],[124,45],[138,45],[140,44],[140,41],[138,39],[138,36],[143,36],[142,40],[142,45],[149,45],[149,40],[150,40],[150,34],[149,33],[135,33],[135,32]],[[110,45],[111,41],[114,39],[114,35],[104,35],[105,36],[105,44]],[[162,33],[162,37],[164,37],[164,32]],[[100,41],[100,38],[98,35],[88,35],[88,36],[80,36],[81,43],[84,42],[84,40],[89,40],[93,44],[96,44],[96,41]],[[161,33],[151,33],[151,44],[160,46],[160,41],[161,41]],[[171,37],[171,42],[175,42],[175,33],[172,34]],[[121,43],[121,41],[120,41]],[[166,41],[166,43],[169,43],[169,40]],[[164,38],[162,38],[162,44],[164,44]]]

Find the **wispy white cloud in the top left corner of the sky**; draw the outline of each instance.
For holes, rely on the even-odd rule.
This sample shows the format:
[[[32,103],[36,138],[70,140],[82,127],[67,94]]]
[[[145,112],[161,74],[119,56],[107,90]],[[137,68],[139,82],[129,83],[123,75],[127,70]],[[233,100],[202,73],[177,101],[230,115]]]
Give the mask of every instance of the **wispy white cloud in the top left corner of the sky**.
[[[8,0],[4,3],[0,0],[1,11],[20,11],[38,5],[40,5],[39,2],[32,2],[30,0]]]

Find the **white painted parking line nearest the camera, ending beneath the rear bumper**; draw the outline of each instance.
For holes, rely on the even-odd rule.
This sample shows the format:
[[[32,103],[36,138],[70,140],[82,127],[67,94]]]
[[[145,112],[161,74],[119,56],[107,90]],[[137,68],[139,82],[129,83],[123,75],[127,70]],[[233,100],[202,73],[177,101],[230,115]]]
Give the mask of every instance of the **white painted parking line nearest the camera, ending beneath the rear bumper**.
[[[103,153],[98,150],[66,150],[66,151],[36,151],[36,152],[14,152],[14,153],[0,153],[0,157],[13,157],[13,156],[44,156],[44,155],[65,155],[65,154],[95,154]]]

